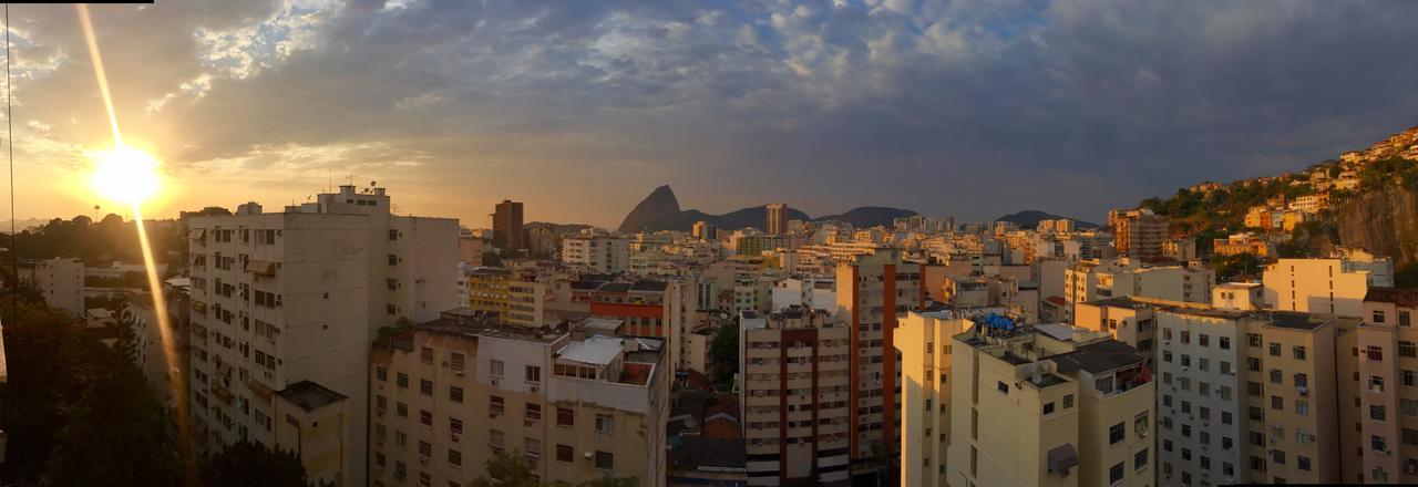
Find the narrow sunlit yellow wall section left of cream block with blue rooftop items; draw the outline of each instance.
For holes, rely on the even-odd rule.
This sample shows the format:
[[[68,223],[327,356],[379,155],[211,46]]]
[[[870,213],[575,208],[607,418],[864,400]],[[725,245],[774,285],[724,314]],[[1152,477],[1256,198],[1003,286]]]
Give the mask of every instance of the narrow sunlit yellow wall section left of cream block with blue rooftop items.
[[[910,311],[893,331],[900,350],[902,486],[947,486],[951,337],[974,326],[949,310]]]

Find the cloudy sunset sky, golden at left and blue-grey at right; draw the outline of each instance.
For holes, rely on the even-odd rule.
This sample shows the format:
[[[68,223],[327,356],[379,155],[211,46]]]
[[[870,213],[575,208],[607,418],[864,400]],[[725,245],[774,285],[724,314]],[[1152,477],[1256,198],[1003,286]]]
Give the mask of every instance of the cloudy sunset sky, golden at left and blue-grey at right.
[[[614,228],[661,184],[708,212],[1100,221],[1418,125],[1418,1],[91,8],[123,139],[163,161],[149,217],[377,181],[475,228],[503,198]],[[16,214],[92,215],[111,136],[75,10],[10,16]]]

